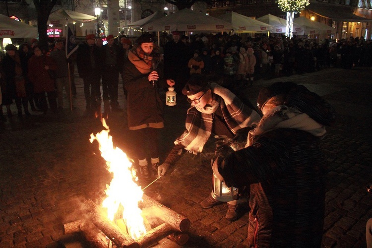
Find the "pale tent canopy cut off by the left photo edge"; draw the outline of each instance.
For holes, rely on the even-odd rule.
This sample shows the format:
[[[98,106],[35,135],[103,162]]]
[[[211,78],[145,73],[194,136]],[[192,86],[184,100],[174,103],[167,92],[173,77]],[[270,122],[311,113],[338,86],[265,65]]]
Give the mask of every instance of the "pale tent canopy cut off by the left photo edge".
[[[38,29],[0,14],[0,38],[36,38]]]

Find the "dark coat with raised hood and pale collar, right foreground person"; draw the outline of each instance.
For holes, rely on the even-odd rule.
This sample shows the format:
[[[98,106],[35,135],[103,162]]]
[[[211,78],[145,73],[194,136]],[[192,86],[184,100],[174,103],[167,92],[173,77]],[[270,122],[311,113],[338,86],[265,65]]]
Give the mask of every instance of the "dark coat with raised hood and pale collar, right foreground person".
[[[289,93],[249,132],[246,148],[218,165],[228,186],[250,186],[250,246],[321,246],[326,168],[319,140],[335,113],[304,88]]]

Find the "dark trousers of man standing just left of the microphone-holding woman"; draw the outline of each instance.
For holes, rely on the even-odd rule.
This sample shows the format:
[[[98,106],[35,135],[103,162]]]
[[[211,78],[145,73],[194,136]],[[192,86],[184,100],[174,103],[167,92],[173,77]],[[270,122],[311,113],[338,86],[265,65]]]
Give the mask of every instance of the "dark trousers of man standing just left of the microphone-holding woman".
[[[111,105],[118,103],[119,71],[118,66],[106,65],[102,74],[102,98],[111,100]]]

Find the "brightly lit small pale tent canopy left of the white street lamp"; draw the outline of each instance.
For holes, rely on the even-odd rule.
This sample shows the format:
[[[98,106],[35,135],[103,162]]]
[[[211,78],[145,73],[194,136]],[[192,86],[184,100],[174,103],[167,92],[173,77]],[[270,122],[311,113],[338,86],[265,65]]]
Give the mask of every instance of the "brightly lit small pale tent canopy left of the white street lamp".
[[[79,13],[72,10],[64,10],[58,9],[53,11],[48,18],[48,25],[49,24],[66,24],[66,23],[73,23],[73,22],[91,22],[96,20],[97,17],[93,15],[87,15],[83,13]],[[37,25],[37,20],[31,20],[31,25]]]

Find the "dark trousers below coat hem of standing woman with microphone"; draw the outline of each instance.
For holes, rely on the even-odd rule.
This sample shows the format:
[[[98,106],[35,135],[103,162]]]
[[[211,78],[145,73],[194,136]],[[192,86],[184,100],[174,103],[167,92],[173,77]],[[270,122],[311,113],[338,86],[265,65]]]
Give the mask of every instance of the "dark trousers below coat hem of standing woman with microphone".
[[[145,159],[148,150],[151,158],[159,157],[158,128],[147,127],[132,130],[132,132],[135,137],[135,152],[138,159]]]

